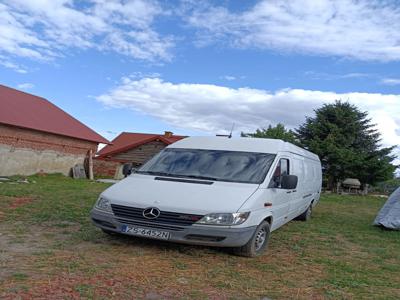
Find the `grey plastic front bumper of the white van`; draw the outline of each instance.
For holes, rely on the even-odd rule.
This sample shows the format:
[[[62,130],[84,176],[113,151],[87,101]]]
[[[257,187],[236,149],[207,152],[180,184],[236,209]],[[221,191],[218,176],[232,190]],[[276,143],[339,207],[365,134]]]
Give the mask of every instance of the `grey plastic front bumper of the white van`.
[[[124,223],[117,221],[113,214],[92,209],[91,219],[99,228],[121,233]],[[168,231],[170,238],[168,241],[185,243],[191,245],[204,245],[215,247],[240,247],[245,245],[253,236],[256,226],[246,228],[219,228],[216,226],[196,225],[185,226],[183,230],[165,230],[152,227],[140,226],[146,229]],[[148,237],[143,237],[148,238]]]

